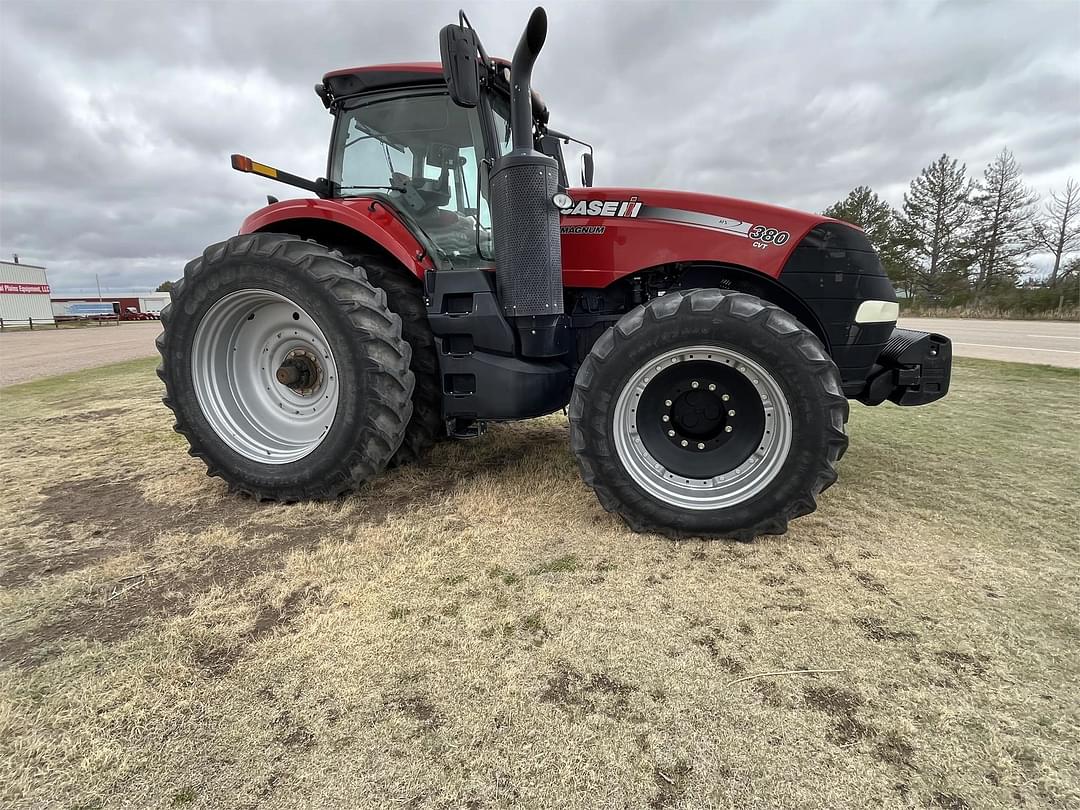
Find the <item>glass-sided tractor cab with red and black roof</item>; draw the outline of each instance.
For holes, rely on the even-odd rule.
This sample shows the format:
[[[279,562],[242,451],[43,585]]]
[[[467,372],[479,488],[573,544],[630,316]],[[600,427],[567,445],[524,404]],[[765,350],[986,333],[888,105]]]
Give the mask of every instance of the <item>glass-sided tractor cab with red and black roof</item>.
[[[451,97],[438,63],[327,73],[315,92],[334,116],[326,197],[382,198],[454,267],[495,261],[488,176],[513,149],[510,65],[492,60],[476,104]],[[535,143],[567,173],[548,109],[531,94]],[[562,136],[567,138],[567,136]]]

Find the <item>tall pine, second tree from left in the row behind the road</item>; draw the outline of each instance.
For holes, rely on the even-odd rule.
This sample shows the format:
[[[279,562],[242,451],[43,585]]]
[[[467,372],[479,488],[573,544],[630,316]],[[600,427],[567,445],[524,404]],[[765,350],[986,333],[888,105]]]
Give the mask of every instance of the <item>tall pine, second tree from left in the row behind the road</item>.
[[[900,244],[915,261],[915,285],[942,295],[967,285],[971,183],[962,163],[942,154],[912,180],[899,218]]]

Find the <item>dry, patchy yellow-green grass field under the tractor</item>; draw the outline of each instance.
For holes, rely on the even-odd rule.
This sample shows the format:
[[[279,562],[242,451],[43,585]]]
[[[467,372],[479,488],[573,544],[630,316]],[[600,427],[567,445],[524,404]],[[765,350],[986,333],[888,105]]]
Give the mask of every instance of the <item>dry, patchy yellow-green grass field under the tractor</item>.
[[[153,365],[0,390],[0,805],[1080,806],[1075,370],[854,406],[738,544],[626,530],[563,417],[258,505]]]

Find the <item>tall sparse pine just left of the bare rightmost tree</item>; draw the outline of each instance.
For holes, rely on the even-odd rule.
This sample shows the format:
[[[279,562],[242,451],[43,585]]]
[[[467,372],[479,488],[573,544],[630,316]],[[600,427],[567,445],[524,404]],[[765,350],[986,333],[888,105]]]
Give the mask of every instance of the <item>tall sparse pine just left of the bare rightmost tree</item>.
[[[975,300],[997,283],[1015,286],[1023,259],[1035,242],[1032,215],[1038,198],[1024,187],[1020,165],[1002,149],[975,184],[972,195],[972,256]]]

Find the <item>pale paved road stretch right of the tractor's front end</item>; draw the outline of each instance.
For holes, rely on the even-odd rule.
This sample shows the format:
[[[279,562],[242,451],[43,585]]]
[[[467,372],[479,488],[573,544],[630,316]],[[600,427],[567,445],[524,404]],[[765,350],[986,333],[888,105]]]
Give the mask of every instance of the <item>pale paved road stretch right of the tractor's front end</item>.
[[[905,318],[900,325],[951,338],[953,353],[960,357],[1080,368],[1077,322]]]

